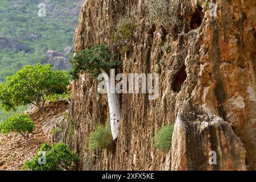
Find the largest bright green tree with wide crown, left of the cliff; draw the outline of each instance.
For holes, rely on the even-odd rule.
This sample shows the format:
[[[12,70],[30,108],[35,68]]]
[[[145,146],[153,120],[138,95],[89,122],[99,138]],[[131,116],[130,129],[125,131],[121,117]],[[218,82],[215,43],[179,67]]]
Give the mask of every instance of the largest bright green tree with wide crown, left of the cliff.
[[[27,65],[0,84],[1,106],[6,111],[33,104],[44,112],[46,96],[62,94],[69,84],[67,73],[53,71],[51,65]]]

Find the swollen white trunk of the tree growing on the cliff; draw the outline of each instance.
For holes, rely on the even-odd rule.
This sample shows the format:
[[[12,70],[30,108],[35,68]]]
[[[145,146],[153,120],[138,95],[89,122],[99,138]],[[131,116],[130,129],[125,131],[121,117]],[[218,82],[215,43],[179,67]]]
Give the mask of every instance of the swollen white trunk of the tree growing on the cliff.
[[[110,113],[110,125],[113,140],[117,139],[119,124],[121,121],[121,106],[117,93],[115,92],[115,83],[110,81],[110,76],[105,72],[104,69],[101,69],[102,75],[106,82],[106,91],[108,93],[108,102],[109,102],[109,113]]]

